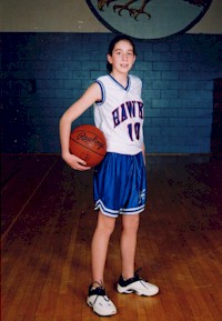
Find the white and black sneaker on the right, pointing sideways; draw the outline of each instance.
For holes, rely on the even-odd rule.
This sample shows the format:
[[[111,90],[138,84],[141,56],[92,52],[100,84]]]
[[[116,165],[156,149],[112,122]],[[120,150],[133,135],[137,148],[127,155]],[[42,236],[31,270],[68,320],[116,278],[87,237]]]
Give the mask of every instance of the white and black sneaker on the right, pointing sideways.
[[[117,289],[119,293],[137,293],[138,295],[145,297],[152,297],[159,292],[157,285],[149,283],[139,277],[139,271],[135,271],[134,277],[128,280],[120,277]]]

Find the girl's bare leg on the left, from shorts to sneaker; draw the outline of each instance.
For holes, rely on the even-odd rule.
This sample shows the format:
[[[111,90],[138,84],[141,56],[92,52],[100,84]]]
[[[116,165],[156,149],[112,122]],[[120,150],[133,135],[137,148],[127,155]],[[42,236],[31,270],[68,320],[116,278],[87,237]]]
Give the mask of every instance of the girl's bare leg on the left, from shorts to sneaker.
[[[103,273],[107,260],[110,237],[114,230],[115,218],[111,218],[99,212],[98,223],[94,230],[91,244],[92,253],[92,282],[103,284]],[[97,287],[98,284],[94,283]]]

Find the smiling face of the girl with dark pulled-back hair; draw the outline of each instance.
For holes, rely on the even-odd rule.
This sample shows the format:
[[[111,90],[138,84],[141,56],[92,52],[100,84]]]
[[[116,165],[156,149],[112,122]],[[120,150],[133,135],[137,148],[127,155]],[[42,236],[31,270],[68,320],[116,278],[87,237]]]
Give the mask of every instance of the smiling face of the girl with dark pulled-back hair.
[[[128,73],[134,61],[132,44],[128,40],[120,40],[115,43],[112,54],[108,54],[108,61],[112,64],[112,71]]]

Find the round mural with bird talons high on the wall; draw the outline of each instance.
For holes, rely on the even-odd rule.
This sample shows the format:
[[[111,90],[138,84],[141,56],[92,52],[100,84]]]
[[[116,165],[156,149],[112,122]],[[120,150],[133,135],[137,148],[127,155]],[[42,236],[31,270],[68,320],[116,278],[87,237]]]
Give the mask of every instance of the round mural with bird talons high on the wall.
[[[85,0],[108,29],[137,39],[160,39],[188,31],[212,0]]]

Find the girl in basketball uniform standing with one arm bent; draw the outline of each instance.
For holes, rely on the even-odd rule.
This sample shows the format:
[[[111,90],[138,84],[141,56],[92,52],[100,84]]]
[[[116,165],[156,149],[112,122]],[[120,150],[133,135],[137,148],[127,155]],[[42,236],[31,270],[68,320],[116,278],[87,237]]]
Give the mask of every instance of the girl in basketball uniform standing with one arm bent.
[[[92,283],[87,298],[87,303],[99,315],[117,313],[114,303],[104,290],[104,267],[110,237],[119,214],[122,215],[122,271],[118,292],[135,292],[147,297],[159,292],[157,285],[144,281],[134,271],[139,213],[145,205],[147,177],[142,83],[139,78],[129,74],[135,61],[133,41],[127,36],[117,36],[110,43],[107,60],[109,74],[91,84],[60,120],[62,158],[75,170],[90,168],[70,153],[71,124],[92,104],[95,126],[107,138],[108,153],[93,177],[94,202],[99,214],[91,244]]]

